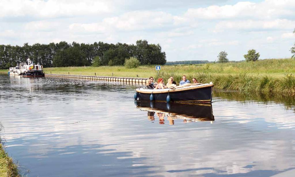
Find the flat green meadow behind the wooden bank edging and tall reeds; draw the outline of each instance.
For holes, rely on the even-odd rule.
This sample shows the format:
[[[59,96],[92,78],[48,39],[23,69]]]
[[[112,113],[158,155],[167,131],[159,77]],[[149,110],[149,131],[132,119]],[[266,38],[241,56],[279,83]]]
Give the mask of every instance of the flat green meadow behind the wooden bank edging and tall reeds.
[[[45,73],[73,74],[73,75],[102,75],[102,76],[125,76],[125,77],[156,77],[155,65],[145,65],[139,68],[127,69],[124,66],[101,66],[101,67],[65,67],[45,68]],[[258,77],[284,77],[286,74],[295,73],[295,60],[293,59],[268,59],[256,62],[239,63],[208,63],[195,65],[163,65],[161,72],[172,75],[197,75],[207,72],[211,75],[236,75],[248,73]]]

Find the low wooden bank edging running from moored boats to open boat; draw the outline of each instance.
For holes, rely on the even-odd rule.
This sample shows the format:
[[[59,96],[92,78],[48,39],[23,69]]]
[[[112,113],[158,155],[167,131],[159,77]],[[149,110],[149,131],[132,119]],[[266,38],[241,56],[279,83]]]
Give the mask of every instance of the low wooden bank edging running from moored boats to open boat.
[[[104,81],[114,81],[114,82],[133,82],[145,84],[148,78],[141,77],[114,77],[114,76],[87,76],[87,75],[66,75],[66,74],[46,74],[45,77],[63,77],[71,79],[88,79],[88,80],[104,80]]]

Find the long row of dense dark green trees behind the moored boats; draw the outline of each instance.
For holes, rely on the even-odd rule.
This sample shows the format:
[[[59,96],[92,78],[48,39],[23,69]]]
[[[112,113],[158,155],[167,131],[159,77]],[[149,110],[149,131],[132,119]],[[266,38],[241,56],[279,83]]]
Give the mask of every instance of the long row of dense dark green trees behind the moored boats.
[[[0,45],[0,69],[8,69],[25,62],[30,58],[34,63],[48,67],[123,65],[126,58],[135,57],[141,65],[166,63],[166,54],[159,44],[149,44],[146,40],[138,40],[136,44],[108,44],[95,42],[59,43],[23,46]],[[95,61],[95,62],[94,62]]]

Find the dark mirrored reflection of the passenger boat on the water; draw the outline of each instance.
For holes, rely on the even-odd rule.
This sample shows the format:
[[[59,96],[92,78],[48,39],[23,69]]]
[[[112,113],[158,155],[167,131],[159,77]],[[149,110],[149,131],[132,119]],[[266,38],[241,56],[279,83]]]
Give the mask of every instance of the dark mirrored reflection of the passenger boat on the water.
[[[214,121],[211,104],[146,101],[134,103],[137,109],[148,112],[149,120],[154,121],[155,117],[158,117],[159,124],[165,123],[165,116],[170,125],[174,124],[175,119],[183,119],[183,122]]]

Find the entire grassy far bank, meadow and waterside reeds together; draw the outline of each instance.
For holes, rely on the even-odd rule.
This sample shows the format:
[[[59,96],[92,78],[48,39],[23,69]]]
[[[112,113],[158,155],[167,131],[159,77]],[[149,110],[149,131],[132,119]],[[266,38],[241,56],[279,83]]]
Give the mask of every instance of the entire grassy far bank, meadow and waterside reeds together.
[[[7,70],[0,70],[7,73]],[[155,65],[141,65],[127,69],[124,66],[44,68],[45,73],[71,75],[100,75],[122,77],[174,77],[176,82],[186,75],[199,82],[213,82],[217,89],[259,92],[263,94],[295,95],[295,60],[265,59],[255,62],[206,63],[191,65],[162,65],[159,73]]]

